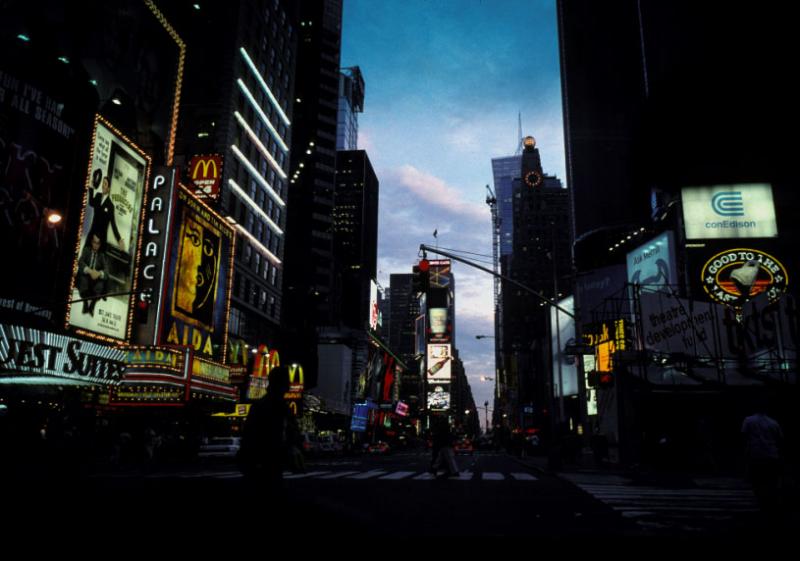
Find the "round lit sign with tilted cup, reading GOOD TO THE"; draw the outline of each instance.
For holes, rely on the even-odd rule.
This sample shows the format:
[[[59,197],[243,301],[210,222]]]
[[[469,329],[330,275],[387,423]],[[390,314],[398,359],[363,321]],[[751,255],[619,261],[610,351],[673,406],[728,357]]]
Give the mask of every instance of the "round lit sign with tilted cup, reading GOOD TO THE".
[[[766,292],[770,302],[786,292],[789,275],[773,256],[750,248],[729,249],[706,261],[701,273],[703,289],[712,300],[741,308]]]

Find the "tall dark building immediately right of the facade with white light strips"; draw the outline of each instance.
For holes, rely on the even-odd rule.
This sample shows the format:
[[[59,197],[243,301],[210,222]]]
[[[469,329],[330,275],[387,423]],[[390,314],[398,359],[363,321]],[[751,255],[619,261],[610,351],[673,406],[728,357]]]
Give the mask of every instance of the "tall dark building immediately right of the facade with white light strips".
[[[313,342],[320,327],[339,320],[333,209],[342,2],[302,2],[298,21],[284,326],[292,337]]]

